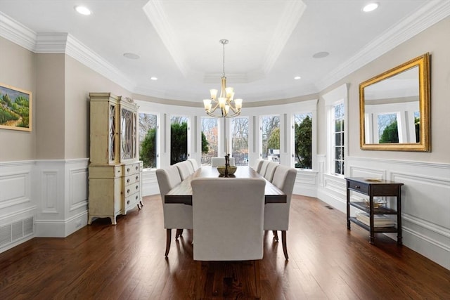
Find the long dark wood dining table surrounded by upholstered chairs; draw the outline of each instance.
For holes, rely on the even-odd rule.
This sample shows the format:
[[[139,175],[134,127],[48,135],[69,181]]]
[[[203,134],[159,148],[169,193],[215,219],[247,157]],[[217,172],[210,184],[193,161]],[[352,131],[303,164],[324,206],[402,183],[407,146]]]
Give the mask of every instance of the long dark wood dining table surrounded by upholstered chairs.
[[[223,180],[233,180],[233,178],[263,178],[266,181],[264,188],[264,202],[267,203],[286,203],[287,197],[282,190],[277,188],[270,181],[258,174],[255,169],[248,166],[238,166],[236,172],[229,178],[222,177],[217,171],[217,167],[202,166],[193,174],[181,181],[172,190],[169,190],[164,197],[165,203],[192,205],[192,187],[191,181],[194,178],[222,178]]]

